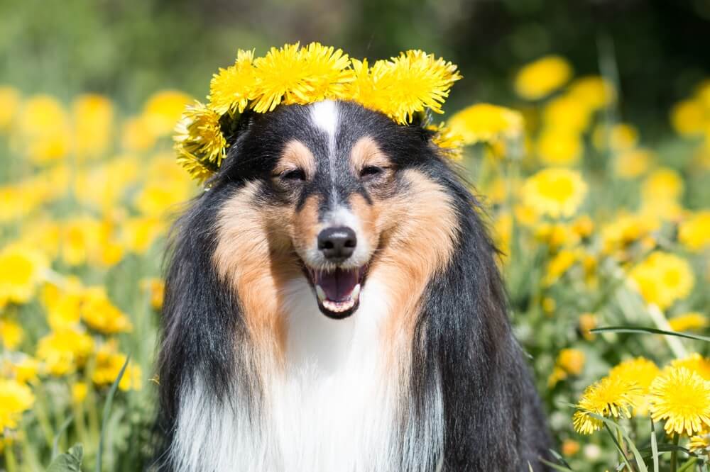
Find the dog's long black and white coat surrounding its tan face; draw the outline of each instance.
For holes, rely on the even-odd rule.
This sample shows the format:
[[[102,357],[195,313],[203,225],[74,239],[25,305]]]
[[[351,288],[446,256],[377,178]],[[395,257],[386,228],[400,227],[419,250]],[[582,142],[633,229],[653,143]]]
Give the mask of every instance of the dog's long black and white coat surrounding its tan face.
[[[364,127],[399,167],[443,189],[455,215],[452,257],[417,301],[403,354],[410,361],[383,360],[386,347],[378,339],[391,307],[378,286],[366,287],[351,318],[330,320],[302,279],[281,293],[289,333],[285,365],[263,364],[240,295],[213,260],[219,208],[269,170],[250,149],[278,143],[250,123],[212,189],[195,199],[173,232],[158,364],[158,467],[423,472],[528,471],[530,464],[546,470],[538,460],[547,450],[545,419],[510,330],[496,249],[478,204],[426,130],[395,126],[351,103],[338,106],[341,127]],[[291,109],[274,120],[286,129],[310,113],[282,108]]]

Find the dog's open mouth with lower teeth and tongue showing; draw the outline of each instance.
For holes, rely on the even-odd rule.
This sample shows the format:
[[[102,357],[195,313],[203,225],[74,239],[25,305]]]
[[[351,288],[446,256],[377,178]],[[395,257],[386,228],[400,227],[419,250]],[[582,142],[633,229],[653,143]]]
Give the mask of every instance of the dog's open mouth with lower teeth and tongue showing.
[[[358,269],[320,271],[306,266],[308,279],[315,289],[318,308],[329,318],[347,318],[360,305],[360,293],[367,266]]]

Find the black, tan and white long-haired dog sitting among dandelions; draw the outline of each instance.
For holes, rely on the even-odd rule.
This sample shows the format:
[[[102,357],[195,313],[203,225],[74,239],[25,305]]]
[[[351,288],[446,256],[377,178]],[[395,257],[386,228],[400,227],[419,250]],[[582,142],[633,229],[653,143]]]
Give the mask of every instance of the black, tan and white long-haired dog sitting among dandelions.
[[[160,470],[542,471],[479,206],[421,124],[242,116],[168,252]]]

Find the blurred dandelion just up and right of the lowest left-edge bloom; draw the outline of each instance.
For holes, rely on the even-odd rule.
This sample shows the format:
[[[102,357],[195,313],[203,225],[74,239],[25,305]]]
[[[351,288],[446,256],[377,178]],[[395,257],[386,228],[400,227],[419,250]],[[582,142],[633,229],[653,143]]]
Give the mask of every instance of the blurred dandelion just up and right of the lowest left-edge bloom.
[[[76,329],[56,330],[37,343],[37,359],[49,373],[62,376],[83,366],[93,350],[94,340],[86,333]]]

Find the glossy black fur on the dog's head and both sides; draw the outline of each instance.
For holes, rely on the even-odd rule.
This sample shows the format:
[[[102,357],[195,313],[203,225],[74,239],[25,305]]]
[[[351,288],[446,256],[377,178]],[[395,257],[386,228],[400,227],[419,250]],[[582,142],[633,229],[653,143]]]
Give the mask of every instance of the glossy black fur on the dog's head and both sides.
[[[503,283],[495,263],[496,249],[486,235],[476,203],[457,172],[432,145],[431,133],[419,125],[401,126],[354,103],[340,103],[338,152],[349,152],[356,140],[370,135],[396,169],[417,168],[452,196],[459,228],[454,257],[429,285],[413,342],[412,400],[417,421],[429,414],[428,400],[438,385],[444,400],[444,471],[547,470],[538,461],[548,446],[545,419],[528,367],[513,338],[506,314]],[[307,125],[308,111],[282,106],[266,115],[244,117],[239,135],[209,191],[197,197],[173,230],[163,308],[163,339],[158,363],[158,425],[165,451],[173,439],[180,391],[196,373],[212,383],[214,397],[235,391],[258,402],[260,386],[249,356],[249,335],[238,294],[219,280],[212,253],[216,246],[217,209],[246,181],[265,182],[262,198],[278,201],[283,193],[268,184],[279,150],[298,139],[322,159],[324,139]],[[343,164],[346,159],[342,160]],[[368,194],[349,170],[335,169],[344,193]],[[405,185],[396,181],[391,191]],[[313,181],[302,189],[327,193],[331,186]],[[235,363],[235,359],[236,363]],[[226,400],[224,400],[226,401]],[[258,412],[254,412],[258,414]],[[164,459],[164,458],[163,458]],[[160,460],[162,470],[172,470]],[[430,464],[434,471],[436,463]]]

